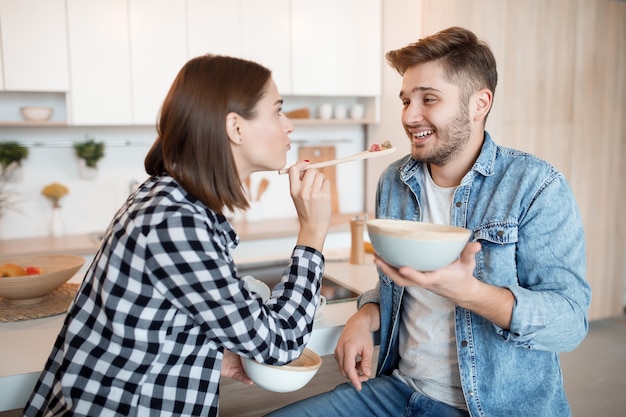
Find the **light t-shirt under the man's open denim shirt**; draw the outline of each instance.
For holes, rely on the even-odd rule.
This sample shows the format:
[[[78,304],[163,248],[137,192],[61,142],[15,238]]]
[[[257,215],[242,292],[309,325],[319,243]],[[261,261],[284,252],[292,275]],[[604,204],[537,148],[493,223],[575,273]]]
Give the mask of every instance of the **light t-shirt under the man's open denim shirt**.
[[[450,224],[456,187],[435,184],[423,165],[422,221]],[[415,254],[419,256],[419,254]],[[466,409],[454,330],[454,303],[421,287],[406,287],[400,321],[400,364],[394,375],[413,389]]]

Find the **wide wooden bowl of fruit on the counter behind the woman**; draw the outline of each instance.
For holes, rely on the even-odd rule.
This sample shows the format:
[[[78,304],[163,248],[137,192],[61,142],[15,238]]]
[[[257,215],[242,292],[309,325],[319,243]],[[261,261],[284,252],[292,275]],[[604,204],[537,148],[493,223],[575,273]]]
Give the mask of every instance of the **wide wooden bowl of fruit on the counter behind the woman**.
[[[34,304],[69,280],[85,263],[77,255],[0,258],[0,297],[12,304]]]

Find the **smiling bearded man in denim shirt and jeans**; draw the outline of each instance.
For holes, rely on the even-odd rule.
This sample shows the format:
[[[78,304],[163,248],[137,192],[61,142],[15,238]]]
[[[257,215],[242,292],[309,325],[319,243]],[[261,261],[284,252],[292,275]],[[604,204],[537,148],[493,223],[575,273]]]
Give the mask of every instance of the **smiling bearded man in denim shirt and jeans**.
[[[496,62],[472,32],[448,28],[386,57],[402,75],[411,154],[381,175],[376,216],[465,227],[471,242],[433,272],[376,257],[380,281],[335,350],[352,386],[272,417],[571,415],[558,352],[585,337],[591,290],[567,181],[484,130]]]

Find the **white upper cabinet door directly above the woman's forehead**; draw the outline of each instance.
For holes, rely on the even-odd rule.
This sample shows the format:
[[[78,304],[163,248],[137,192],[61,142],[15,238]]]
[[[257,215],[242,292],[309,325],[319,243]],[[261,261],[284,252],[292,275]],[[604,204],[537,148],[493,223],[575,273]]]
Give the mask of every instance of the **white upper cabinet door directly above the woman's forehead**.
[[[289,0],[241,0],[241,56],[272,70],[281,94],[291,94],[289,6]]]

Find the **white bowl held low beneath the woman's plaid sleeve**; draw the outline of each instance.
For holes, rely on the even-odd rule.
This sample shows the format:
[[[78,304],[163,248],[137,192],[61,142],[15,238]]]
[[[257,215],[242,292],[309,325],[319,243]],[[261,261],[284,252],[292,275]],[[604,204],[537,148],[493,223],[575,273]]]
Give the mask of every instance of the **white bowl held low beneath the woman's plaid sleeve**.
[[[299,390],[309,383],[322,366],[322,358],[305,348],[302,355],[287,365],[274,366],[241,358],[246,373],[259,387],[273,392]]]

